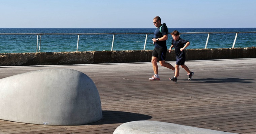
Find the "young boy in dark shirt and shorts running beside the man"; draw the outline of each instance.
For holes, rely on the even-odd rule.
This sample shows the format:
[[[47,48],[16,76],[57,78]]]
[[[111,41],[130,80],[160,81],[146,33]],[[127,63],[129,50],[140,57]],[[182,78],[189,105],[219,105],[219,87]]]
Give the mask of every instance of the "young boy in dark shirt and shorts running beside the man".
[[[191,80],[192,76],[194,75],[194,72],[191,72],[189,68],[185,65],[185,51],[184,49],[189,46],[190,42],[188,40],[180,38],[180,33],[175,30],[171,33],[172,40],[171,40],[171,47],[169,48],[169,53],[171,52],[171,49],[174,47],[175,54],[176,54],[176,64],[175,64],[175,75],[172,78],[169,78],[169,80],[177,82],[177,77],[179,76],[181,65],[182,68],[184,68],[188,73],[188,80]],[[184,46],[185,45],[185,46]]]

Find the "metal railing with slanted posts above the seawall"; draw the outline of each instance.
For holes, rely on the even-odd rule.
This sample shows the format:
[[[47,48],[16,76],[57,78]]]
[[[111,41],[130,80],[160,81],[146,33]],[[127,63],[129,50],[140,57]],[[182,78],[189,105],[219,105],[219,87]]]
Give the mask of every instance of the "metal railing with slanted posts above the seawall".
[[[186,33],[180,33],[180,34],[208,34],[206,43],[205,43],[205,48],[206,48],[210,34],[227,34],[227,33],[235,33],[235,39],[234,39],[233,46],[232,46],[232,48],[234,48],[235,41],[236,41],[237,35],[239,33],[256,33],[256,32],[186,32]],[[78,51],[79,35],[99,35],[99,34],[110,34],[110,35],[113,34],[113,40],[112,40],[112,45],[111,45],[111,51],[113,51],[115,35],[118,35],[118,34],[146,34],[144,49],[143,49],[143,50],[145,50],[148,34],[154,34],[154,33],[0,33],[0,35],[37,35],[36,53],[38,53],[38,52],[40,53],[41,36],[42,35],[77,35],[76,51]],[[39,37],[39,46],[38,46],[38,37]]]

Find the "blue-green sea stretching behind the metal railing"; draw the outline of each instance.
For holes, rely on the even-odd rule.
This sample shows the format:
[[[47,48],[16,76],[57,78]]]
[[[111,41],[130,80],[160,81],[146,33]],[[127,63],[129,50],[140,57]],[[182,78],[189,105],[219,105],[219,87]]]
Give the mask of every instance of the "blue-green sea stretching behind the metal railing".
[[[169,33],[178,30],[187,32],[255,32],[256,28],[168,28]],[[114,33],[152,33],[147,35],[146,50],[153,50],[152,38],[155,28],[0,28],[0,53],[35,53],[39,51],[37,35],[3,35],[2,33],[110,33],[79,35],[41,35],[40,52],[84,52],[110,51]],[[113,33],[113,34],[112,34]],[[207,33],[181,34],[181,38],[189,40],[186,49],[205,48]],[[231,48],[235,33],[210,34],[207,48]],[[143,50],[146,34],[115,34],[113,51]],[[171,45],[168,35],[167,48]],[[37,43],[38,42],[38,43]],[[256,46],[256,33],[238,33],[234,47]]]

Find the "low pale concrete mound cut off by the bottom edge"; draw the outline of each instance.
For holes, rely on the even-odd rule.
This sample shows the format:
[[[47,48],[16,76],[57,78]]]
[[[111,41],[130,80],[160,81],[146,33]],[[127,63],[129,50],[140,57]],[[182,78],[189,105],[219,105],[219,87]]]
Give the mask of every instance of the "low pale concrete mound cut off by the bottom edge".
[[[157,121],[133,121],[120,125],[113,134],[235,134]]]

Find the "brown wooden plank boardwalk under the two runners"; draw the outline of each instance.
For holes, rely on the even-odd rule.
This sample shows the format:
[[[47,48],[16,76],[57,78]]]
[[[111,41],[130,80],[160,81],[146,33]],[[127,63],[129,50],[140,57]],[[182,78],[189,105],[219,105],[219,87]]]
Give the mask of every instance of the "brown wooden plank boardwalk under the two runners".
[[[160,66],[161,80],[148,80],[153,75],[151,63],[0,67],[0,78],[50,68],[81,71],[95,82],[103,113],[102,120],[79,126],[0,120],[0,134],[112,134],[119,125],[137,120],[256,134],[256,59],[186,61],[186,65],[195,74],[189,81],[181,68],[177,83],[168,80],[173,72]]]

